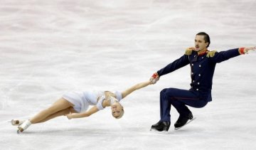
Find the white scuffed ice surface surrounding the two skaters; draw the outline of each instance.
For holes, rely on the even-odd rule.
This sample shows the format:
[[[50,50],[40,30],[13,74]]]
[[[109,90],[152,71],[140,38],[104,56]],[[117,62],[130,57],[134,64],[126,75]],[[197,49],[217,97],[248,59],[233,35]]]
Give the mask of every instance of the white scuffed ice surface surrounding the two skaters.
[[[209,50],[256,45],[256,1],[0,1],[0,149],[256,149],[256,52],[216,66],[213,102],[169,134],[159,121],[159,92],[189,89],[186,66],[82,119],[58,117],[16,134],[28,119],[70,90],[126,90],[210,35]]]

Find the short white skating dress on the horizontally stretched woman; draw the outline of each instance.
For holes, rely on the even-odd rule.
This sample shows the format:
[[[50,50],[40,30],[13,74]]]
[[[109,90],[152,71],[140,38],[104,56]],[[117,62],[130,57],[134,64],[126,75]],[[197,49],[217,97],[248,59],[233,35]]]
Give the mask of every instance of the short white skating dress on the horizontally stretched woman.
[[[122,100],[122,93],[115,91],[112,92],[117,97],[117,100]],[[71,102],[76,112],[85,112],[89,105],[97,105],[97,109],[103,109],[102,100],[99,100],[100,104],[97,104],[98,97],[105,97],[104,91],[85,91],[85,92],[68,92],[63,95],[65,100]]]

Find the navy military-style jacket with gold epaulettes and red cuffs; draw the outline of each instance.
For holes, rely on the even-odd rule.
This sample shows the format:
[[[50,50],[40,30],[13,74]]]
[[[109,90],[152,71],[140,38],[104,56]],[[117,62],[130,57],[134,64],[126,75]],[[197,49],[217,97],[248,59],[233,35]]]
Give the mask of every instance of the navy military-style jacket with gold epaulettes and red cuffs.
[[[213,73],[216,63],[223,62],[235,56],[243,54],[240,48],[216,52],[203,50],[197,52],[195,50],[186,50],[186,53],[178,58],[173,63],[166,65],[165,68],[157,71],[159,77],[171,73],[185,65],[191,66],[191,89],[194,92],[199,92],[201,99],[210,102],[211,89],[213,85]]]

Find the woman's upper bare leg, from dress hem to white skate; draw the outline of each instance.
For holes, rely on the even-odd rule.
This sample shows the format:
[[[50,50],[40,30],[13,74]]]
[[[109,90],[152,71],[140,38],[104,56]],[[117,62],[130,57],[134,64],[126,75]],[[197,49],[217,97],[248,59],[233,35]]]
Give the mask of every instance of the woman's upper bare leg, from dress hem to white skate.
[[[70,102],[68,102],[68,100],[65,100],[64,98],[60,98],[59,100],[57,100],[55,103],[53,103],[52,106],[50,106],[47,109],[44,109],[43,111],[39,112],[38,114],[36,114],[36,116],[34,116],[32,119],[30,119],[30,122],[32,124],[36,124],[38,122],[43,121],[43,119],[46,119],[47,117],[49,117],[51,114],[55,114],[56,112],[61,112],[69,107],[73,107],[74,105]],[[64,112],[62,112],[64,113]]]

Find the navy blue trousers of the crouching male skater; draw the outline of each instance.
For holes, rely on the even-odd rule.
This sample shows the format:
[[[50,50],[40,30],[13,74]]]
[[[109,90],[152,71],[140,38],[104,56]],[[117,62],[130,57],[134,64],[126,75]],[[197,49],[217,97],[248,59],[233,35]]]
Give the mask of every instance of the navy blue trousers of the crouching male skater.
[[[196,108],[206,106],[207,100],[200,98],[200,93],[193,90],[180,90],[166,88],[160,92],[160,121],[171,122],[171,105],[173,105],[181,117],[187,117],[191,112],[186,105]]]

